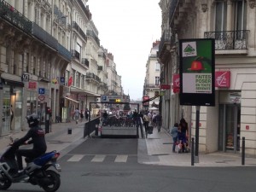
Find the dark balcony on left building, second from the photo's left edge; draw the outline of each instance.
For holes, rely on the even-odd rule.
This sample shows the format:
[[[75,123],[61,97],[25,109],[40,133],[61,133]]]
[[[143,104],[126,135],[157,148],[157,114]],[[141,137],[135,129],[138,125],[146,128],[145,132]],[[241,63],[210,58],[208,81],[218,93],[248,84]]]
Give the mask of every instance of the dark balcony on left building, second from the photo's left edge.
[[[36,23],[32,23],[32,35],[48,44],[53,49],[58,49],[58,41]]]

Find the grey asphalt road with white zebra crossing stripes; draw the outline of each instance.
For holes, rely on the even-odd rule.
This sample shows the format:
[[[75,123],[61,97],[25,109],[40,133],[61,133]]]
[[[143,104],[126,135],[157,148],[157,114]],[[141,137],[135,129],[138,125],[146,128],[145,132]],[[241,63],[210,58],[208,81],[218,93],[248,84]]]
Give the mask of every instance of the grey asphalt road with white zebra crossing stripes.
[[[90,138],[59,161],[61,192],[252,192],[256,167],[172,167],[137,163],[137,139]],[[9,191],[38,192],[15,183]]]

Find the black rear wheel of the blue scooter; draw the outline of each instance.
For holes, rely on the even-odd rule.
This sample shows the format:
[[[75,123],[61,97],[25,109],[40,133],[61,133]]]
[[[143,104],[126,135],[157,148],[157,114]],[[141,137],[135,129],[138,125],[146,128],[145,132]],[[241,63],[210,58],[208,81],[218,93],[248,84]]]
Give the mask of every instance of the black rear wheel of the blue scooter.
[[[45,171],[50,182],[44,183],[42,188],[46,192],[55,192],[61,186],[60,175],[52,170]]]

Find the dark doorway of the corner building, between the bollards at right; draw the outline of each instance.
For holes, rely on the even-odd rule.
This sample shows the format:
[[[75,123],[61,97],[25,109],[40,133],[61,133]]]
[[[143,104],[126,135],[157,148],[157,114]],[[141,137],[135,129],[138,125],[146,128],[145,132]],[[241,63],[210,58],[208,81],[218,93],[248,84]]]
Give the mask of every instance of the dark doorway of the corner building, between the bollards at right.
[[[219,106],[218,150],[240,151],[241,105],[221,104]]]

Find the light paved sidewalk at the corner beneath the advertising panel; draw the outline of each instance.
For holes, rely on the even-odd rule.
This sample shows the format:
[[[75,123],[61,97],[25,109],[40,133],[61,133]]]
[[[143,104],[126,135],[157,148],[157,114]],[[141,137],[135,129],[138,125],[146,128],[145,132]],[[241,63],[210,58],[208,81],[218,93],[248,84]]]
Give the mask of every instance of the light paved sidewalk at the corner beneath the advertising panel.
[[[191,153],[172,153],[172,137],[165,129],[148,135],[146,146],[148,158],[141,159],[141,163],[160,166],[191,166]],[[143,143],[139,143],[143,148]],[[145,157],[145,156],[144,156]],[[194,166],[241,166],[241,154],[216,152],[199,154],[199,163]],[[255,158],[246,158],[245,166],[256,166]]]

